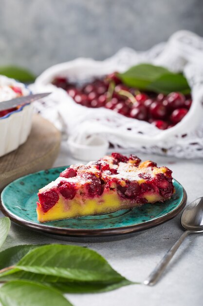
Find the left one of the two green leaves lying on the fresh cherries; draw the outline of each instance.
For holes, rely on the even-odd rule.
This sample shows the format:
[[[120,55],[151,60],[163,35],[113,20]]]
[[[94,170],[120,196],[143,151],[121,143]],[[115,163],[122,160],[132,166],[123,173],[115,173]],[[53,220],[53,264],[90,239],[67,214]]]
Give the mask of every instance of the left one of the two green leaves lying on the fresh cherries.
[[[129,87],[146,89],[151,82],[169,71],[161,66],[140,64],[129,68],[124,73],[119,73],[121,80]]]

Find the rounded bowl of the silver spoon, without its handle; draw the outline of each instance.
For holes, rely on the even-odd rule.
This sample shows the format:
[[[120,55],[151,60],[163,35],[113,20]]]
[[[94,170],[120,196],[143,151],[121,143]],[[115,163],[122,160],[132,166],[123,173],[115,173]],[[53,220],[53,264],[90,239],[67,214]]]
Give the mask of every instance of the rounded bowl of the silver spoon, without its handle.
[[[203,197],[197,198],[185,208],[181,225],[188,231],[203,231]]]

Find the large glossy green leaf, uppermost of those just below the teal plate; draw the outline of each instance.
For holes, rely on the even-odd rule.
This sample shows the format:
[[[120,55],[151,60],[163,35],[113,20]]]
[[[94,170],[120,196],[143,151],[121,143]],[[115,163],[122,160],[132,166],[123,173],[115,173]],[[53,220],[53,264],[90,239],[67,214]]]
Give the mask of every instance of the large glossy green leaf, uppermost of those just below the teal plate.
[[[37,247],[25,255],[13,269],[1,273],[0,280],[13,273],[20,273],[20,270],[35,273],[37,281],[47,283],[68,280],[116,283],[125,280],[101,255],[74,245],[51,244]],[[29,277],[33,277],[32,274],[28,274]]]

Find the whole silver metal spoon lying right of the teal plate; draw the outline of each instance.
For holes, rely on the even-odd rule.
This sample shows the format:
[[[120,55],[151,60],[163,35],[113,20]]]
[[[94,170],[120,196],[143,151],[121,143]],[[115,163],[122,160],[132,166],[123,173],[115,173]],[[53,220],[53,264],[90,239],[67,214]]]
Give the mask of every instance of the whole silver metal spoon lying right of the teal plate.
[[[144,284],[153,286],[158,282],[166,268],[166,265],[171,260],[187,235],[203,233],[203,197],[197,198],[185,208],[181,216],[181,225],[185,228],[186,232],[184,232],[179,240],[177,240],[176,243],[168,250],[161,262],[159,262],[148,278],[144,281]]]

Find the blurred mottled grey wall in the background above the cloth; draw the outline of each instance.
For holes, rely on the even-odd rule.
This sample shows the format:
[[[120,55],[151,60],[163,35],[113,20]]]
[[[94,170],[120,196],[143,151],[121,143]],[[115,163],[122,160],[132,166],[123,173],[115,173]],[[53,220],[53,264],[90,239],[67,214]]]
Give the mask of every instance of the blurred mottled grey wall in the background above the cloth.
[[[39,74],[123,46],[145,50],[180,29],[203,36],[202,0],[0,0],[0,65]]]

